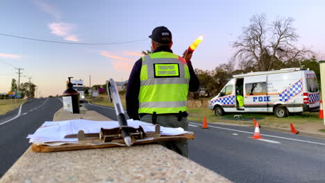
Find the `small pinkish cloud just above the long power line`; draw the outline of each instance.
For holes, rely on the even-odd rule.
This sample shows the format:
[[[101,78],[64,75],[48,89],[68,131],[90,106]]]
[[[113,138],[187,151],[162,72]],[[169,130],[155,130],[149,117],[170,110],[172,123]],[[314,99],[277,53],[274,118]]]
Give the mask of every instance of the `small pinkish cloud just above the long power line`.
[[[76,28],[76,25],[65,22],[52,22],[48,26],[52,34],[65,37],[65,40],[68,41],[78,42],[78,36],[71,33]]]

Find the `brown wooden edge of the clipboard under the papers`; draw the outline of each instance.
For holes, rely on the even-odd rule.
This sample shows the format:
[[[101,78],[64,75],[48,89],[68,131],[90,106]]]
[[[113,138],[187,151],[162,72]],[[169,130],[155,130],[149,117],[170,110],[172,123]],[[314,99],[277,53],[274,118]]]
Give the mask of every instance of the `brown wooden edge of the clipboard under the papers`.
[[[138,141],[133,143],[132,146],[140,145],[140,144],[148,144],[155,143],[158,141],[176,141],[176,140],[189,140],[194,139],[194,133],[186,133],[175,136],[162,136],[162,137],[154,137],[154,139],[148,141]],[[87,144],[78,144],[78,143],[67,143],[61,146],[46,146],[46,145],[36,145],[33,144],[31,149],[34,152],[38,153],[50,153],[50,152],[58,152],[58,151],[67,151],[67,150],[83,150],[83,149],[95,149],[95,148],[110,148],[110,147],[121,147],[116,144],[102,144],[102,145],[87,145]]]

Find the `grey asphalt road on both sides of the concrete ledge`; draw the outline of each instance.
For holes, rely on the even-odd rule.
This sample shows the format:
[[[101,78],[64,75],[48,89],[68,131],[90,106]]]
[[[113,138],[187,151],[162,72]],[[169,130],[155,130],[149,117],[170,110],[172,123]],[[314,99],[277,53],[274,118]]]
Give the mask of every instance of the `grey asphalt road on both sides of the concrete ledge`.
[[[30,146],[32,134],[62,107],[58,98],[34,99],[19,110],[0,116],[0,177]],[[115,110],[85,104],[116,120]],[[13,119],[7,123],[8,119]],[[195,139],[190,141],[190,159],[233,182],[325,182],[325,140],[260,130],[262,140],[250,139],[253,128],[190,122]]]

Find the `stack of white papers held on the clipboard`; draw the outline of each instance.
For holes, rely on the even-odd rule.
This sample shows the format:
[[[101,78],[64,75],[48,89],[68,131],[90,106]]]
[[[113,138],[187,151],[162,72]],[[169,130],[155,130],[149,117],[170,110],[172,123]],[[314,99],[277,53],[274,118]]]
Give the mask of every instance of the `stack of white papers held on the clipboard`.
[[[151,123],[144,123],[142,121],[128,120],[128,125],[133,128],[142,126],[144,132],[154,132],[155,125]],[[90,121],[85,119],[74,119],[68,121],[45,121],[43,125],[36,130],[34,134],[28,134],[27,139],[30,143],[49,143],[49,142],[67,142],[76,143],[78,139],[65,138],[68,134],[78,134],[79,130],[83,130],[85,134],[99,133],[101,128],[111,129],[119,127],[118,121]],[[187,131],[183,128],[166,128],[160,127],[160,134],[162,135],[178,135],[184,134]]]

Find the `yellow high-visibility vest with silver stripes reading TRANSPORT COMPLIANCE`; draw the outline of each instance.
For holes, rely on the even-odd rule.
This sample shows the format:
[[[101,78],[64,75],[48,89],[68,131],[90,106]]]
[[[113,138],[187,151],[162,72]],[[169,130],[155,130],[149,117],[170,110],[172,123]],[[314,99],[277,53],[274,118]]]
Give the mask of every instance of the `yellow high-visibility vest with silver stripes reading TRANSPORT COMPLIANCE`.
[[[142,58],[139,113],[185,112],[190,72],[183,58],[157,52]]]

